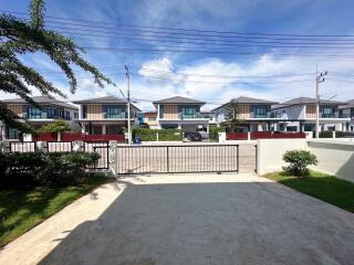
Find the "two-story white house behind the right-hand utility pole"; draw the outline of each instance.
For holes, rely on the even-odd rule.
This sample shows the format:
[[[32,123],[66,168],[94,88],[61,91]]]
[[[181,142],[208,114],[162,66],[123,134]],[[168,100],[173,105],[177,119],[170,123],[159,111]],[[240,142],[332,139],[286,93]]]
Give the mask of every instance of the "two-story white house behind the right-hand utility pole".
[[[315,103],[315,98],[298,97],[273,106],[273,115],[282,118],[279,130],[314,131]],[[343,103],[336,100],[320,100],[320,131],[347,130],[351,117],[348,114],[341,112],[341,105]]]

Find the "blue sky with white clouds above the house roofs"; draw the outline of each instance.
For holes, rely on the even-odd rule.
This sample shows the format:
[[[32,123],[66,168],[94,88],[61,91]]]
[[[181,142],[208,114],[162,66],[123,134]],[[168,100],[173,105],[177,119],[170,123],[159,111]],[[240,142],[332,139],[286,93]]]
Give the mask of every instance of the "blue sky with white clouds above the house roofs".
[[[0,0],[0,9],[28,12],[28,0]],[[45,8],[45,14],[49,17],[104,22],[86,23],[63,20],[63,23],[58,23],[55,19],[46,19],[48,26],[65,32],[64,34],[87,47],[85,57],[114,80],[117,87],[100,88],[93,83],[90,75],[77,72],[79,89],[71,95],[67,82],[62,74],[56,73],[58,68],[45,56],[30,54],[22,57],[66,92],[69,99],[105,95],[119,96],[117,89],[125,91],[126,88],[123,70],[125,63],[132,70],[132,96],[137,99],[137,105],[146,110],[152,109],[153,105],[145,99],[159,99],[175,95],[206,100],[209,103],[206,105],[207,109],[241,95],[279,102],[296,96],[313,96],[316,64],[320,71],[348,74],[332,78],[342,82],[329,78],[322,83],[321,96],[323,98],[333,95],[336,95],[335,99],[339,100],[354,98],[354,77],[350,78],[350,75],[354,73],[354,62],[347,57],[325,61],[323,57],[287,55],[281,52],[298,53],[301,52],[301,49],[260,47],[247,43],[243,43],[246,47],[232,46],[233,44],[228,43],[226,39],[218,38],[211,38],[209,41],[217,43],[215,45],[195,44],[192,42],[200,42],[198,34],[188,35],[188,41],[183,40],[184,43],[178,42],[178,34],[177,39],[162,34],[160,40],[167,42],[152,42],[147,36],[142,35],[140,31],[143,29],[144,34],[149,34],[146,31],[162,31],[155,28],[178,28],[272,34],[354,35],[353,1],[51,0],[46,1]],[[77,25],[80,23],[83,25]],[[122,28],[122,25],[154,28],[134,28],[136,31],[132,31],[133,28]],[[113,31],[118,33],[113,33]],[[75,32],[84,35],[72,34]],[[186,31],[178,32],[186,33]],[[110,50],[98,51],[96,47]],[[124,52],[119,49],[131,49],[135,52]],[[200,49],[216,53],[176,52]],[[136,52],[136,50],[154,50],[154,52]],[[256,55],[236,55],[242,52],[252,52]],[[309,52],[321,53],[323,51],[314,47]],[[244,77],[223,78],[225,75]],[[273,75],[293,76],[253,78],[254,76]],[[33,89],[33,94],[37,95],[38,92]],[[0,94],[0,97],[12,96]]]

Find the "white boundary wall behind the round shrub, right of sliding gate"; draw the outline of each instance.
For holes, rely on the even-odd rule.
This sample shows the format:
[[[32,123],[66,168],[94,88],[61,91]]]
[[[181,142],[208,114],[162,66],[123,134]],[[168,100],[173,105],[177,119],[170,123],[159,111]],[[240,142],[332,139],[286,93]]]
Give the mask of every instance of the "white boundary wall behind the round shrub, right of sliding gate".
[[[312,167],[354,182],[354,140],[352,139],[260,139],[257,142],[257,172],[281,171],[288,150],[309,150],[316,155],[319,165]]]

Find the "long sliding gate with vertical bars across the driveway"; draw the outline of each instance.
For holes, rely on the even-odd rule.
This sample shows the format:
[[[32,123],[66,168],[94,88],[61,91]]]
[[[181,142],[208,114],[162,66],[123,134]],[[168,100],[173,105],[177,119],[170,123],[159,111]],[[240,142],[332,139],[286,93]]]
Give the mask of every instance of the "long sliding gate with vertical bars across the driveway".
[[[238,172],[239,145],[118,146],[119,174]]]

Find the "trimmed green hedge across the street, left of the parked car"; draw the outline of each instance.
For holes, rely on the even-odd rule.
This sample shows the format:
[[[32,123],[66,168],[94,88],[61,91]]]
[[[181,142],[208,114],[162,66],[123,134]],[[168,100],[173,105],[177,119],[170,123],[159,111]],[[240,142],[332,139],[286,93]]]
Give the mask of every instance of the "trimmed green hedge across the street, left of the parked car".
[[[134,128],[133,139],[138,136],[142,141],[156,141],[156,132],[158,132],[159,141],[181,141],[183,130],[180,129],[147,129]]]

